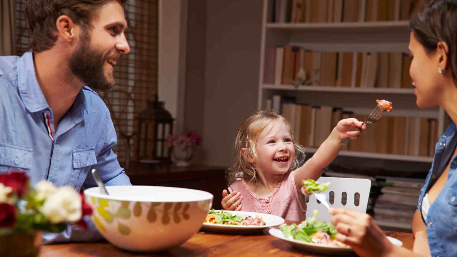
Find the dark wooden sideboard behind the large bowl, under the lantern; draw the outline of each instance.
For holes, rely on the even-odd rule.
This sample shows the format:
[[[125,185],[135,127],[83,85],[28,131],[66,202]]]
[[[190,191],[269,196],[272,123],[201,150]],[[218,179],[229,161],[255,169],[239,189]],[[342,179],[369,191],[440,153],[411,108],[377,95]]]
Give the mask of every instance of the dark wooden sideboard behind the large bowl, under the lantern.
[[[218,166],[177,167],[174,164],[130,162],[126,174],[132,185],[185,187],[212,193],[213,208],[221,209],[222,190],[227,187],[225,168]]]

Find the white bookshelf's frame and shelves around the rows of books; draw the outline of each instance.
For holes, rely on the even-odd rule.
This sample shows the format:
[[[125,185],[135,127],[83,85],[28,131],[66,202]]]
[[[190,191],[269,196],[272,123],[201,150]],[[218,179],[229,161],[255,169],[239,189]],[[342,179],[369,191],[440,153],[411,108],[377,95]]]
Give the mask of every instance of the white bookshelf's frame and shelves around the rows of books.
[[[266,99],[275,94],[294,96],[297,102],[338,106],[357,114],[369,114],[376,99],[393,102],[393,112],[385,115],[437,118],[438,130],[444,128],[445,112],[440,107],[420,109],[414,89],[355,88],[330,86],[275,85],[272,83],[275,47],[291,44],[314,51],[330,52],[403,52],[408,53],[409,21],[272,23],[271,0],[264,0],[260,44],[260,74],[257,108],[265,108]],[[376,126],[376,124],[373,124]],[[315,152],[315,148],[307,148]],[[382,160],[414,161],[430,164],[432,157],[340,151],[340,156]]]

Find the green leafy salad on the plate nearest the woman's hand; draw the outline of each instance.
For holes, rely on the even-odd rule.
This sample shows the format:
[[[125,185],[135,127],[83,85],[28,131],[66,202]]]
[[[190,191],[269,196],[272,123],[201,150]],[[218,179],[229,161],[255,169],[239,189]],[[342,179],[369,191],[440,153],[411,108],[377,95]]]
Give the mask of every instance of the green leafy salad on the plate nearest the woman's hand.
[[[284,223],[279,226],[279,229],[287,239],[314,242],[312,241],[313,235],[317,232],[325,232],[330,236],[331,239],[334,239],[336,234],[335,226],[329,222],[317,221],[316,217],[319,214],[318,210],[314,210],[313,214],[313,218],[308,218],[299,225],[286,225]]]

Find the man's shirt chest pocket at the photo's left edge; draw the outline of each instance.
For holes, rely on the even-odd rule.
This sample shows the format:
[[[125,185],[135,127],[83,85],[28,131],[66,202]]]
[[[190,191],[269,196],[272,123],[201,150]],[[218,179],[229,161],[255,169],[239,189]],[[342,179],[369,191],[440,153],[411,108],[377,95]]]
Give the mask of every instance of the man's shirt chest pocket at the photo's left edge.
[[[24,171],[28,175],[32,167],[32,156],[31,149],[0,144],[0,173]]]

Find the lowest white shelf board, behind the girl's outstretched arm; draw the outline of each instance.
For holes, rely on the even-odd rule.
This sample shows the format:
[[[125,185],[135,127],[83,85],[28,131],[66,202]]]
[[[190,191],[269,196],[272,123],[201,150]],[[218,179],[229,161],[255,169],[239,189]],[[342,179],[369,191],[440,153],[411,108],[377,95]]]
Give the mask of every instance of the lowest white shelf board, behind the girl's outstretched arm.
[[[305,147],[306,153],[315,153],[317,148]],[[383,160],[395,160],[395,161],[416,161],[416,162],[426,162],[431,163],[433,157],[428,156],[412,156],[412,155],[394,155],[394,154],[381,154],[381,153],[367,153],[367,152],[357,152],[357,151],[345,151],[341,150],[338,153],[340,156],[350,156],[350,157],[361,157],[361,158],[373,158],[373,159],[383,159]]]

